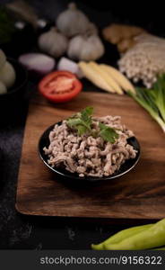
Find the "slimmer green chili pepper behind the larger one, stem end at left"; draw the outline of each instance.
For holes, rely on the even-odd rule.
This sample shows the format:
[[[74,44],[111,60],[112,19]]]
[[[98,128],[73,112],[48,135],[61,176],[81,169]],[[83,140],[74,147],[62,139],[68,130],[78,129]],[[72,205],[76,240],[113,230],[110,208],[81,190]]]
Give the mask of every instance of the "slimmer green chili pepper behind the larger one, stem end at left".
[[[134,235],[136,235],[137,233],[142,232],[145,229],[149,229],[153,226],[153,224],[147,224],[147,225],[143,225],[143,226],[136,226],[136,227],[132,227],[129,229],[123,229],[119,232],[117,232],[115,235],[111,236],[110,238],[108,238],[107,240],[105,240],[104,242],[101,242],[98,245],[91,245],[92,249],[95,250],[103,250],[105,249],[105,245],[111,245],[111,244],[117,244],[120,241],[126,239],[126,238],[130,238]]]

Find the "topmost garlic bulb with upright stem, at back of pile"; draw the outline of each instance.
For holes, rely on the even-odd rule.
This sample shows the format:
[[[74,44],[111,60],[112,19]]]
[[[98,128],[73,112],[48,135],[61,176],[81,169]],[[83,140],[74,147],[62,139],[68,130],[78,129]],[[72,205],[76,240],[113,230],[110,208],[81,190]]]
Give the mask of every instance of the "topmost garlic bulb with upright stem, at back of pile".
[[[73,37],[88,30],[89,20],[74,3],[71,3],[67,10],[58,15],[56,26],[65,36]]]

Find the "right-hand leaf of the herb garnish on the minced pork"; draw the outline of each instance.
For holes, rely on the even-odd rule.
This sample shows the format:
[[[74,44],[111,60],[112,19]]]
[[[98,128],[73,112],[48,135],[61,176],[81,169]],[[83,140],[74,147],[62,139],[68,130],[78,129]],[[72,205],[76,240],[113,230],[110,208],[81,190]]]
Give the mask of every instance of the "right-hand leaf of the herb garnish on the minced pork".
[[[116,139],[118,139],[119,135],[117,131],[113,128],[106,126],[103,123],[99,123],[100,127],[100,137],[110,143],[115,143]]]

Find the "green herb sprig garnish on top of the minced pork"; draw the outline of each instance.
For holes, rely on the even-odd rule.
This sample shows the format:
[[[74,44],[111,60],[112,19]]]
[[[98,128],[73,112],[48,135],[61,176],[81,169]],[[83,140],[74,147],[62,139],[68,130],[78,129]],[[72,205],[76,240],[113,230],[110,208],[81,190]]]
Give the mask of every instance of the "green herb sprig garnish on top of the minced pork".
[[[86,107],[82,112],[76,113],[73,117],[67,120],[67,125],[77,130],[78,135],[83,134],[91,135],[94,138],[101,137],[102,139],[114,143],[118,138],[118,134],[115,129],[106,126],[103,123],[99,123],[100,131],[91,130],[91,115],[93,112],[92,107]]]

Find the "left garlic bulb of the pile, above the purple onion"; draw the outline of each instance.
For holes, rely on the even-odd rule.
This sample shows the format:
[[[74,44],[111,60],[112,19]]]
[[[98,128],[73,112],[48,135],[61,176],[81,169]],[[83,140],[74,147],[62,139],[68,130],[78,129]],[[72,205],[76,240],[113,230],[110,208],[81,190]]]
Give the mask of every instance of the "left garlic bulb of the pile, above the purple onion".
[[[52,27],[49,31],[39,36],[39,49],[49,55],[58,58],[62,56],[68,47],[67,38]]]

